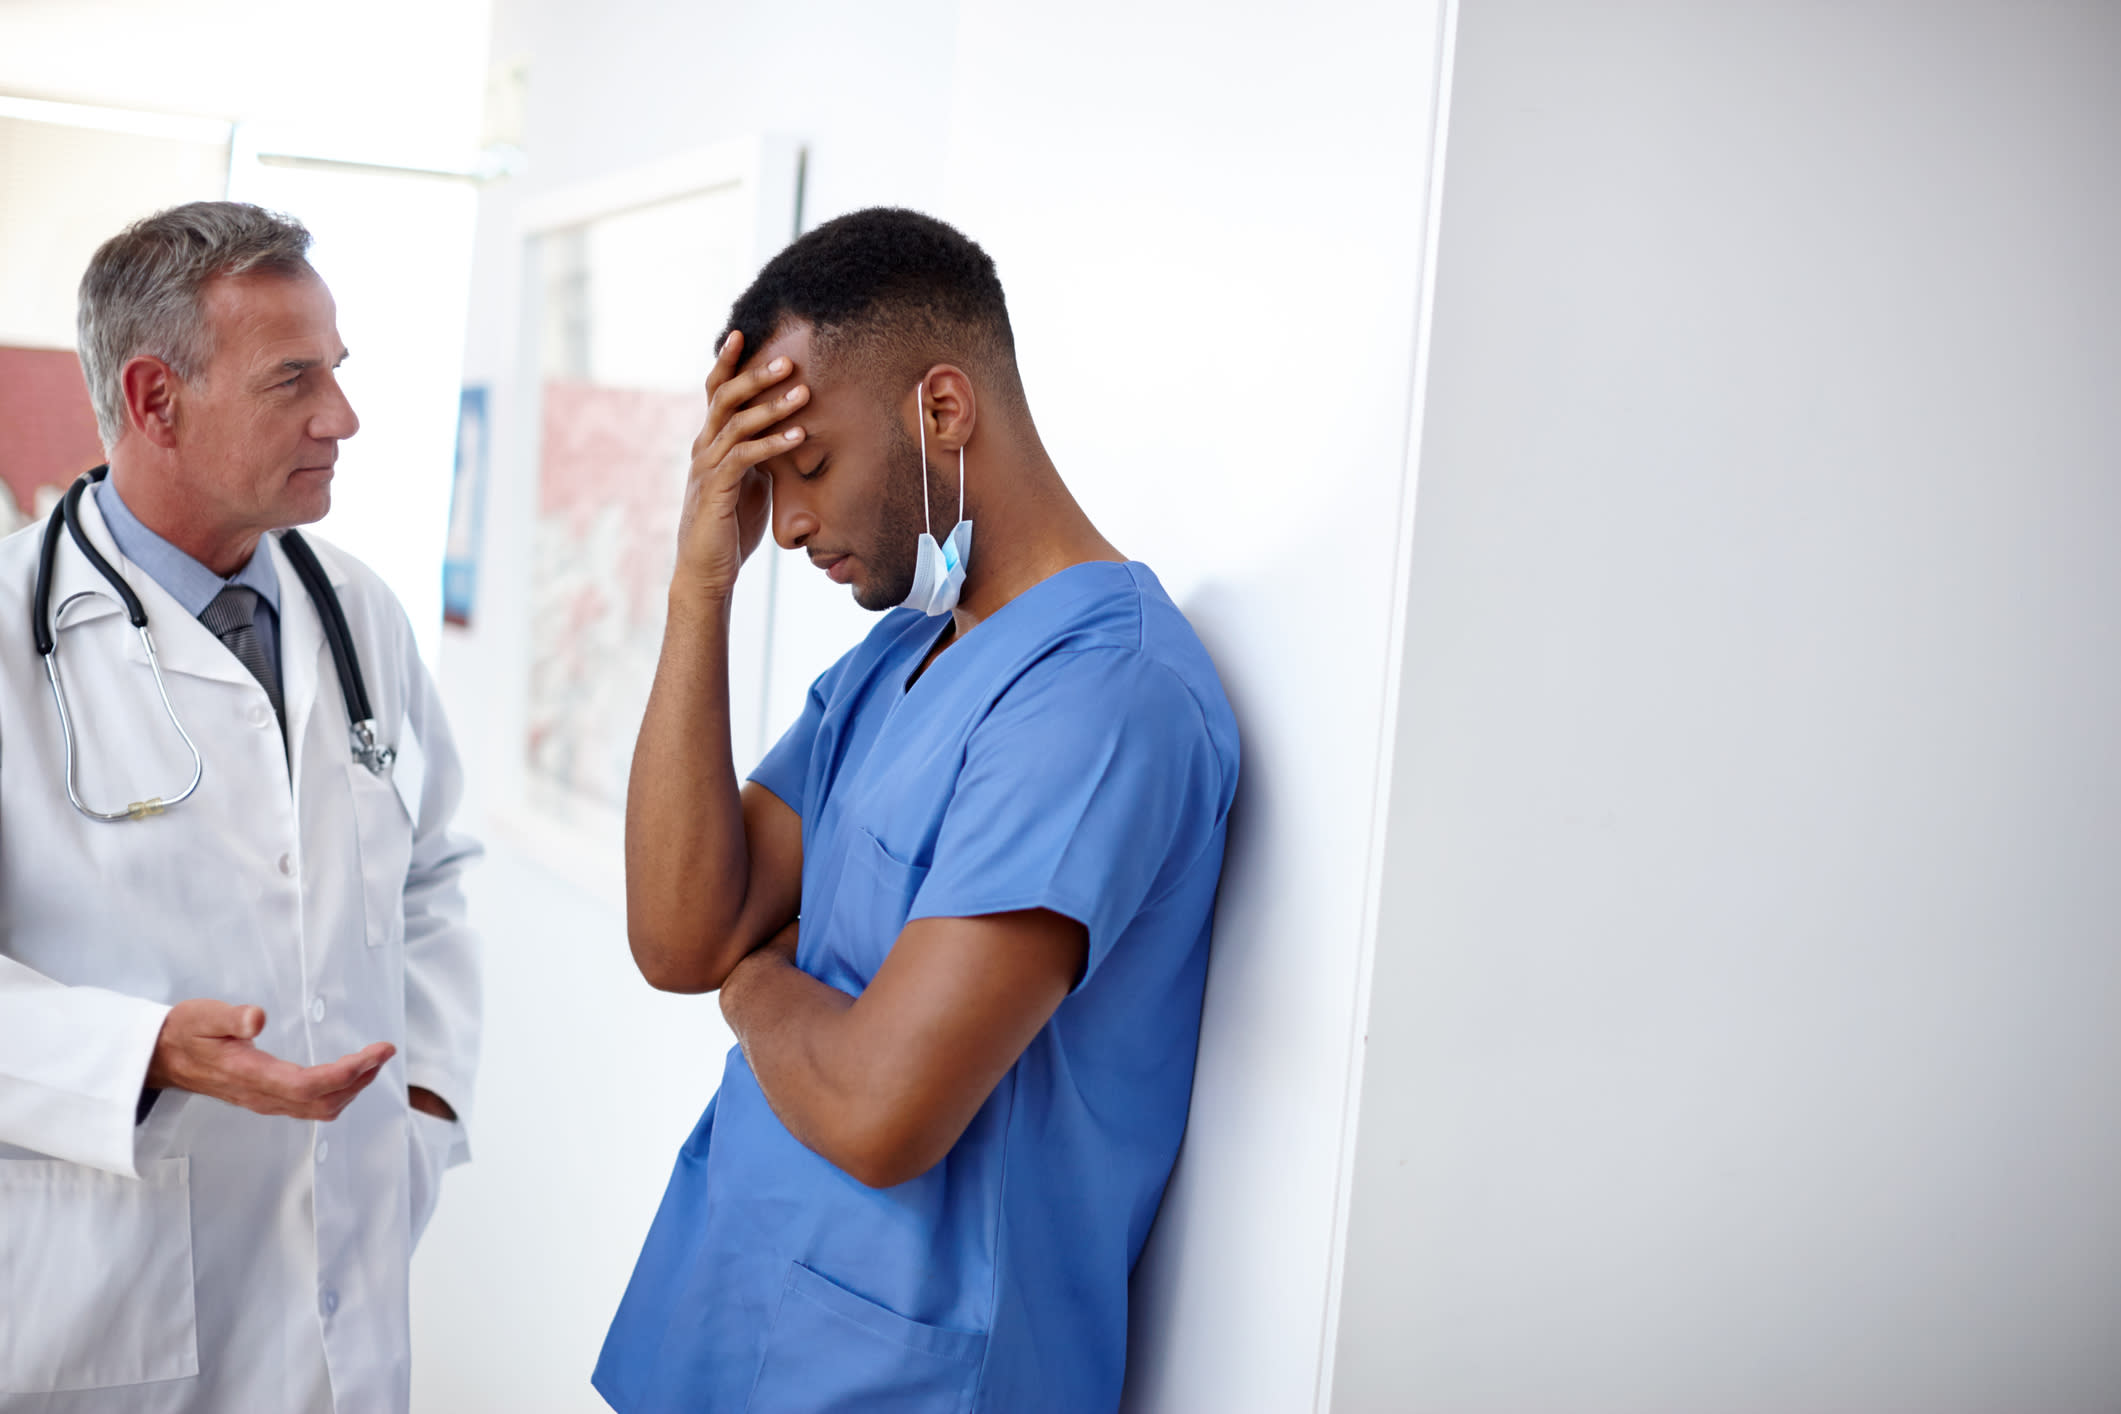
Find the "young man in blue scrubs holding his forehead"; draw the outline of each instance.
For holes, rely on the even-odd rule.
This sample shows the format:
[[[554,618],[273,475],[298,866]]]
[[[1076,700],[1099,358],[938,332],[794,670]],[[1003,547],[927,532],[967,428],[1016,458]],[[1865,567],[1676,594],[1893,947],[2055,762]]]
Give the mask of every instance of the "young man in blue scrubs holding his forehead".
[[[626,888],[643,975],[721,988],[738,1049],[596,1389],[626,1414],[1111,1410],[1186,1128],[1230,706],[1039,445],[976,244],[855,212],[730,322]],[[768,519],[889,613],[738,784],[730,594]]]

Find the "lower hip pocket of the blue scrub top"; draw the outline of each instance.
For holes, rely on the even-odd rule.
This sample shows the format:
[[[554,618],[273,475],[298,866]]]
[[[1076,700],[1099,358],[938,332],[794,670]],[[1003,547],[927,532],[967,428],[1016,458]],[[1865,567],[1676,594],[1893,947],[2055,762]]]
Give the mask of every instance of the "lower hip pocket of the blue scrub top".
[[[986,1336],[921,1325],[789,1263],[749,1414],[950,1414],[971,1406]]]

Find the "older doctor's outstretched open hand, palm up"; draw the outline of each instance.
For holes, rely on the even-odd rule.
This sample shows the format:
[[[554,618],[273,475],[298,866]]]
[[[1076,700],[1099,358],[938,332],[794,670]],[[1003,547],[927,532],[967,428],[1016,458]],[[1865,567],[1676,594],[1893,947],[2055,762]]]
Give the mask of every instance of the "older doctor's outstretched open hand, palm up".
[[[375,1041],[320,1066],[297,1066],[255,1045],[263,1030],[263,1007],[231,1007],[206,996],[180,1001],[163,1018],[146,1083],[210,1094],[259,1115],[337,1119],[397,1054],[388,1041]]]

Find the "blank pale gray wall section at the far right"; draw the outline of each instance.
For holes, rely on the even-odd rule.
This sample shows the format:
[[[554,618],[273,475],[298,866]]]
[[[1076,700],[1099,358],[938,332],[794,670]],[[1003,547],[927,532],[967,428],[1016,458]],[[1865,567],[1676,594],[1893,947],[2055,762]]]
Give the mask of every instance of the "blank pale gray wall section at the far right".
[[[2121,11],[1468,0],[1336,1410],[2110,1410]]]

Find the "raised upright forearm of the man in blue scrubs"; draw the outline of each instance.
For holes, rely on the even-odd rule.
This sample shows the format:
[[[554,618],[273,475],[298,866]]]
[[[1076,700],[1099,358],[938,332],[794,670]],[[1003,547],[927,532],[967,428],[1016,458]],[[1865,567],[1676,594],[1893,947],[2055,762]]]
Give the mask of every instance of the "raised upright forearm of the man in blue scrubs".
[[[747,880],[730,604],[672,591],[626,786],[626,931],[643,975],[670,990],[719,986],[742,956],[734,924]]]

